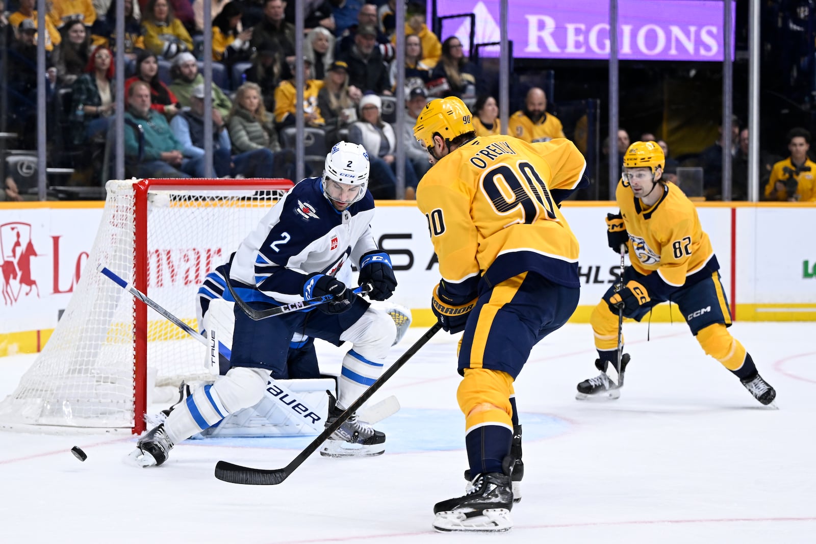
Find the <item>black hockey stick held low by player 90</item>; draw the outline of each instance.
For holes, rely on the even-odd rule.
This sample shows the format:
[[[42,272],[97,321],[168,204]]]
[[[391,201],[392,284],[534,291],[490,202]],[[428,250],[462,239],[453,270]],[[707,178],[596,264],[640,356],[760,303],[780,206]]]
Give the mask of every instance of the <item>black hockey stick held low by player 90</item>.
[[[366,389],[366,391],[363,392],[363,394],[359,396],[343,414],[340,414],[334,422],[332,422],[322,433],[320,433],[320,435],[317,436],[317,438],[312,440],[312,443],[308,444],[306,449],[298,453],[297,457],[286,465],[286,467],[273,470],[264,470],[260,468],[241,467],[240,465],[233,465],[231,462],[219,461],[218,464],[215,465],[215,477],[219,480],[229,482],[230,484],[280,484],[283,480],[286,480],[286,478],[289,477],[289,475],[291,475],[291,473],[294,472],[295,469],[297,469],[297,467],[299,467],[309,455],[314,453],[315,450],[317,450],[317,448],[319,448],[320,445],[329,438],[329,436],[337,431],[337,429],[339,429],[340,426],[343,425],[343,423],[350,418],[352,414],[354,414],[354,412],[360,409],[366,400],[369,400],[380,387],[383,387],[384,383],[386,383],[388,379],[401,368],[402,365],[405,365],[416,352],[419,352],[419,348],[428,343],[428,340],[430,340],[434,334],[437,334],[437,331],[441,329],[441,327],[441,323],[436,323],[430,329],[428,329],[428,332],[423,334],[413,346],[409,347],[408,350],[403,353],[402,356],[397,359],[397,361],[394,362],[394,364],[391,365],[375,383],[372,383],[371,386]]]

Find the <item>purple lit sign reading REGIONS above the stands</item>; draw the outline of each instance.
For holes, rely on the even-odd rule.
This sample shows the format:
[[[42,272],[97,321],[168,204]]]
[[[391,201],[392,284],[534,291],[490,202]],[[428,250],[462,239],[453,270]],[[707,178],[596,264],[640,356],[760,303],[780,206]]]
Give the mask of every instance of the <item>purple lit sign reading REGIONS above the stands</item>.
[[[428,15],[432,13],[428,2]],[[436,0],[437,15],[476,15],[478,43],[499,42],[499,0]],[[734,36],[734,2],[731,29]],[[711,0],[619,0],[618,46],[621,60],[723,60],[723,7]],[[465,47],[470,20],[444,20],[441,40],[455,34]],[[608,59],[607,0],[511,0],[508,37],[516,57]],[[482,55],[498,55],[497,47]],[[734,58],[732,40],[731,58]]]

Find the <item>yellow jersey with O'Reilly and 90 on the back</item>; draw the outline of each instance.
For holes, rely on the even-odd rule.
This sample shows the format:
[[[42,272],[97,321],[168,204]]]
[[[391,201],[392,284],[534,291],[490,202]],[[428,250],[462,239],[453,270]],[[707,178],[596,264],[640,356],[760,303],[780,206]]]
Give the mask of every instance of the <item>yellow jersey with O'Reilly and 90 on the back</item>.
[[[503,135],[473,139],[432,166],[416,200],[448,293],[469,300],[480,280],[492,286],[526,271],[579,287],[578,240],[558,204],[588,184],[585,167],[568,139]]]

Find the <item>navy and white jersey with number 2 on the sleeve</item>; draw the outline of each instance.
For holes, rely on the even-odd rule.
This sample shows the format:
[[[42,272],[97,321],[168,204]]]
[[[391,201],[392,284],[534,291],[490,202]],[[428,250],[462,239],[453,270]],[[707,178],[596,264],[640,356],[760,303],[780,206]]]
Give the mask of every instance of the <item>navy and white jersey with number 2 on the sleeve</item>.
[[[363,254],[378,249],[372,219],[370,192],[341,212],[323,195],[320,178],[304,179],[238,247],[229,272],[238,296],[245,302],[302,301],[306,276],[336,276],[348,259],[359,266]]]

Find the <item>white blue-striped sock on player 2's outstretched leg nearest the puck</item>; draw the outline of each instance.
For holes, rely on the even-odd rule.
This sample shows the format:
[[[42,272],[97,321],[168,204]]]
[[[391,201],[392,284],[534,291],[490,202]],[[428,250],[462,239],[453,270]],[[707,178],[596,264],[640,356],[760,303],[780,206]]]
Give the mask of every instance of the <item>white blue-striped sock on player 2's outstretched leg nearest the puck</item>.
[[[193,395],[177,406],[164,422],[164,430],[178,444],[212,427],[228,414],[258,404],[264,396],[268,370],[237,367],[212,385],[196,387]]]

